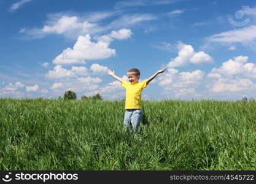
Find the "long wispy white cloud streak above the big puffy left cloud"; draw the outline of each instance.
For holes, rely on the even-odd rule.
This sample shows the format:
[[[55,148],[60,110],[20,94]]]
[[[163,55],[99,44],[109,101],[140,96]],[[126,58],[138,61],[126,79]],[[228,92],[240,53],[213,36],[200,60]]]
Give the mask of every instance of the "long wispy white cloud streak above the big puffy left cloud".
[[[119,16],[121,15],[121,16]],[[101,21],[104,18],[115,16],[114,20],[111,20],[107,24],[99,24],[97,21]],[[48,34],[61,34],[69,39],[77,39],[78,36],[84,36],[90,34],[106,33],[106,31],[120,28],[129,28],[131,26],[140,26],[143,21],[156,20],[157,17],[151,14],[132,14],[122,15],[120,11],[114,12],[91,12],[81,17],[76,15],[66,15],[64,13],[56,13],[48,15],[48,20],[41,28],[34,29],[20,29],[20,33],[27,34],[34,39],[42,38]],[[123,31],[129,29],[123,29]],[[116,39],[118,39],[116,37]]]

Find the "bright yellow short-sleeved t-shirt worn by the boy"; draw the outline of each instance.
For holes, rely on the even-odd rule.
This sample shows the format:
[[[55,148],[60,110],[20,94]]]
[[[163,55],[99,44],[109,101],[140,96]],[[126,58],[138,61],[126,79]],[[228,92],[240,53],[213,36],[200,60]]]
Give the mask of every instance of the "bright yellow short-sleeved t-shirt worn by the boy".
[[[134,83],[123,80],[122,87],[126,88],[125,95],[125,109],[142,109],[141,108],[141,91],[149,84],[144,80],[142,82]]]

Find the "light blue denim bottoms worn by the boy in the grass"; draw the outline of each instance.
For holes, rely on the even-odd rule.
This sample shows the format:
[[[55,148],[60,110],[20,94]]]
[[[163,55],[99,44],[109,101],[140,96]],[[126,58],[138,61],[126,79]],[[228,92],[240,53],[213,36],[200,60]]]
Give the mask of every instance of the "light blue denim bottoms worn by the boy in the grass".
[[[131,131],[138,131],[139,123],[142,122],[141,109],[126,109],[123,126]]]

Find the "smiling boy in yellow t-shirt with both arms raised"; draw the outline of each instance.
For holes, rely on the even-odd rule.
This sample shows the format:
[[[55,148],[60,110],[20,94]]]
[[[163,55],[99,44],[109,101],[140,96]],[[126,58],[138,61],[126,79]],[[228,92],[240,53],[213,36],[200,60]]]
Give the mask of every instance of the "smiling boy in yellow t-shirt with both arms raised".
[[[138,69],[133,68],[127,72],[129,82],[117,77],[114,71],[109,70],[108,74],[122,82],[122,87],[126,88],[125,95],[125,118],[123,125],[125,128],[130,128],[131,131],[138,131],[139,123],[142,121],[142,108],[141,108],[141,91],[149,85],[158,74],[161,74],[166,69],[161,69],[153,74],[149,79],[139,82],[140,72]]]

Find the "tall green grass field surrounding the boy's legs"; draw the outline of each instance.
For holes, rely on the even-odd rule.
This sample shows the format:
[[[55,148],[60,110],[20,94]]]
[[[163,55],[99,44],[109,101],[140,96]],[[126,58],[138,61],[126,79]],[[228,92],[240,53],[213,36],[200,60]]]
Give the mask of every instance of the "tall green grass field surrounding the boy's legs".
[[[255,170],[256,103],[0,99],[0,170]]]

